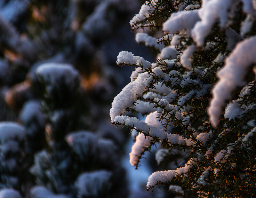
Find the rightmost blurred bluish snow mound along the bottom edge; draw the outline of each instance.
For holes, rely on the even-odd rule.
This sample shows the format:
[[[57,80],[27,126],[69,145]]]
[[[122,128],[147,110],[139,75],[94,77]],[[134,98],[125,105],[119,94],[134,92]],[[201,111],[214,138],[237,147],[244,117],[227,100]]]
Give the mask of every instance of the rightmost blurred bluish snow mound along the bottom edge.
[[[77,197],[101,197],[111,188],[112,173],[107,170],[84,172],[75,182]]]

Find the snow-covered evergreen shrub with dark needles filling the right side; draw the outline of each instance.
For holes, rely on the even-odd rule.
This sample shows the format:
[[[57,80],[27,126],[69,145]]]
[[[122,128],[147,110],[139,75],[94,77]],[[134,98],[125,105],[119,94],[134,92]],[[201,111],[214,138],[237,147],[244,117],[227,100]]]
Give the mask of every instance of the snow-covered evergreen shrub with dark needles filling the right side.
[[[118,65],[136,69],[110,117],[138,133],[132,166],[165,149],[147,190],[167,182],[179,197],[256,196],[255,16],[251,0],[151,0],[130,21],[156,61],[119,53]]]

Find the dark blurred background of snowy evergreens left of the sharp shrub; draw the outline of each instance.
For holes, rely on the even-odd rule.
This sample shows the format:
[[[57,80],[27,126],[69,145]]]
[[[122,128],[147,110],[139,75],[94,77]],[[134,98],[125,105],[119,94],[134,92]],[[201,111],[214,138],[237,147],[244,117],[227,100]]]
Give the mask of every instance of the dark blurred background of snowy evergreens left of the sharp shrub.
[[[154,61],[129,26],[141,4],[0,1],[1,198],[165,196],[145,191],[154,157],[134,170],[130,131],[109,118],[132,72],[119,52]]]

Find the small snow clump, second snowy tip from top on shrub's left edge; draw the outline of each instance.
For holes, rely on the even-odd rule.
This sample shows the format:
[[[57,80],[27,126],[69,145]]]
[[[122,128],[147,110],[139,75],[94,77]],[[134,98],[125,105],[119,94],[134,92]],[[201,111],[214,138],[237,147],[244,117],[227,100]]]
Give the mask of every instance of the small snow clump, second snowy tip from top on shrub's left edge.
[[[148,47],[154,47],[161,51],[164,48],[163,44],[157,44],[157,39],[155,37],[149,36],[147,33],[137,33],[135,35],[135,40],[137,43],[144,43]]]

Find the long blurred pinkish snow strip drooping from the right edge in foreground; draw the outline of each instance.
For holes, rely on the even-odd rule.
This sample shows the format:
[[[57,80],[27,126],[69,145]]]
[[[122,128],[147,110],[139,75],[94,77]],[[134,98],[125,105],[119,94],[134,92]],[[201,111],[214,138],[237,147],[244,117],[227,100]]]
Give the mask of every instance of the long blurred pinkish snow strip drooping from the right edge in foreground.
[[[214,127],[219,123],[225,100],[231,98],[232,91],[237,86],[244,85],[247,68],[256,63],[256,37],[253,36],[239,42],[225,61],[225,66],[217,73],[219,81],[212,89],[213,98],[210,101],[208,114]]]

